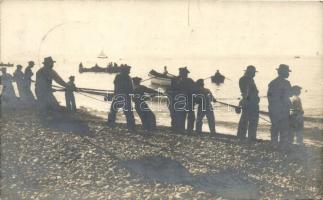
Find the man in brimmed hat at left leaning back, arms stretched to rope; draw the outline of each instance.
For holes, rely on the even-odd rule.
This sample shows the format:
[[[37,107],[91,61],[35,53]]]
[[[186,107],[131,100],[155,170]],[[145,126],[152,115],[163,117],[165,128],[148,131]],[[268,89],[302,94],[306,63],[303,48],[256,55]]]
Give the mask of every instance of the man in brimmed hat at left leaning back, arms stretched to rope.
[[[52,57],[44,58],[44,66],[36,73],[35,93],[38,100],[40,114],[47,116],[51,111],[58,109],[58,102],[53,94],[53,80],[63,87],[67,87],[65,81],[53,70],[55,61]]]

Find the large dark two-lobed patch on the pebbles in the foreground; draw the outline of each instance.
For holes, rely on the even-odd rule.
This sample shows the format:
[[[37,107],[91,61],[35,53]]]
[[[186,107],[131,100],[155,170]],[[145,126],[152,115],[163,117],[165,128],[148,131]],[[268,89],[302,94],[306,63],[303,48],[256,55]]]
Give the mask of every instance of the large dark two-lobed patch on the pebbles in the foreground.
[[[246,175],[231,170],[194,176],[178,161],[162,156],[122,161],[121,166],[143,177],[146,181],[190,185],[196,190],[229,199],[236,197],[258,199],[260,197],[256,183],[247,180]]]

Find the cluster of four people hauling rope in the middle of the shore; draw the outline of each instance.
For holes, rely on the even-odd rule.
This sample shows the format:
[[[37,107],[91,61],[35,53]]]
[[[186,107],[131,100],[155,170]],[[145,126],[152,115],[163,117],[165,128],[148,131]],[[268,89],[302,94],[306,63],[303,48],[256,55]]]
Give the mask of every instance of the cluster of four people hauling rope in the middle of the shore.
[[[156,128],[156,117],[145,102],[151,96],[160,95],[158,91],[141,85],[141,78],[130,77],[130,66],[124,67],[114,80],[114,98],[108,115],[108,125],[115,126],[116,113],[122,109],[130,131],[135,129],[135,120],[131,109],[132,101],[145,130]],[[196,131],[202,132],[203,118],[209,121],[211,133],[215,133],[215,118],[211,101],[215,101],[210,90],[204,88],[204,80],[194,82],[188,78],[189,70],[179,69],[179,75],[172,79],[171,87],[165,94],[171,116],[171,128],[176,132],[192,132],[196,121]],[[198,105],[195,120],[194,107]]]

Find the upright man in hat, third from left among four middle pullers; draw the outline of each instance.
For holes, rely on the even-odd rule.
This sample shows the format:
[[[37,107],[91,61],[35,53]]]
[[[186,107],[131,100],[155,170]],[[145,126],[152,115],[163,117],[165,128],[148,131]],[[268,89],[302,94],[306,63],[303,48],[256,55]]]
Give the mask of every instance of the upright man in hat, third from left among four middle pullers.
[[[195,122],[193,94],[196,92],[196,85],[193,79],[188,78],[189,73],[187,67],[179,68],[178,94],[175,97],[177,128],[178,131],[185,132],[187,122],[187,133],[193,131]]]

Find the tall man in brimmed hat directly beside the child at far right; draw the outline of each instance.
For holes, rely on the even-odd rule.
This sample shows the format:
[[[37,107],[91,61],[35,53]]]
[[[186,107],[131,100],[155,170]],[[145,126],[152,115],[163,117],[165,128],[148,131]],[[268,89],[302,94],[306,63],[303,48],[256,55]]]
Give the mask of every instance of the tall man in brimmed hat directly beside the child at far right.
[[[278,77],[268,85],[268,110],[271,121],[271,141],[291,143],[291,133],[289,130],[289,112],[291,85],[288,80],[289,66],[279,65],[277,68]]]

